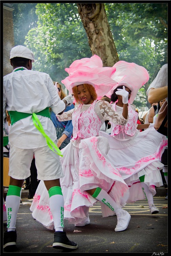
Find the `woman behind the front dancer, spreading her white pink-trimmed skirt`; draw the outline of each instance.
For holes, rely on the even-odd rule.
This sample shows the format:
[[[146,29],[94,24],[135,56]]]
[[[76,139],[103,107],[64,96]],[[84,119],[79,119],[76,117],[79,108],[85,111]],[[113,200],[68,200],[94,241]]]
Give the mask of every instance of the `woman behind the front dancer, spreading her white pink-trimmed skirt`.
[[[133,84],[120,82],[111,95],[112,107],[116,113],[122,113],[122,97],[117,90],[124,87],[131,97]],[[134,104],[128,104],[128,122],[125,126],[112,123],[111,134],[102,131],[100,136],[107,137],[110,144],[108,158],[122,175],[130,187],[130,196],[127,203],[147,199],[151,214],[159,212],[153,203],[156,187],[163,185],[160,170],[162,153],[167,147],[167,137],[159,134],[153,124],[137,125],[137,112]],[[148,127],[151,128],[148,128]],[[148,128],[142,132],[138,129]]]

